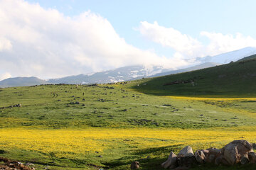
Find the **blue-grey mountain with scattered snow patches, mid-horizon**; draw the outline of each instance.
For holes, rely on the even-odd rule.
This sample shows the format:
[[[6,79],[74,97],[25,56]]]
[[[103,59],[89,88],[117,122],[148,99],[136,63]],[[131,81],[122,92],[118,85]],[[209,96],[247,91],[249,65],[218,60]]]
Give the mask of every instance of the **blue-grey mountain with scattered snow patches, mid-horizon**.
[[[117,81],[127,81],[137,77],[149,77],[151,75],[166,72],[168,69],[163,69],[160,66],[145,67],[142,65],[120,67],[111,69],[105,72],[97,72],[94,74],[79,74],[76,76],[63,77],[60,79],[49,79],[49,84],[101,84]]]

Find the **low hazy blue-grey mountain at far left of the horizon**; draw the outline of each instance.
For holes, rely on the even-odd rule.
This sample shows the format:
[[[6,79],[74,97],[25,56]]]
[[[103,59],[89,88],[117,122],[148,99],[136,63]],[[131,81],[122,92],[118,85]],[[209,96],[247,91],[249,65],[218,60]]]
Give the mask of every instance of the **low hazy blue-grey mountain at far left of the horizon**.
[[[0,81],[0,87],[33,86],[39,84],[47,84],[47,82],[37,77],[16,77]]]

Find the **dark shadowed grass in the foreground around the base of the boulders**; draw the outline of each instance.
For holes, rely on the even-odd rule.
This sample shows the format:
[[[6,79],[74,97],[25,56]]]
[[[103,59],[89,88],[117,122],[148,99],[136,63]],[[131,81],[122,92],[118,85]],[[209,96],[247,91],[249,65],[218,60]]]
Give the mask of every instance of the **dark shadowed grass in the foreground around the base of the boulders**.
[[[148,149],[138,149],[127,157],[115,159],[112,162],[107,162],[105,165],[110,166],[110,169],[124,170],[129,168],[130,164],[134,161],[138,161],[140,169],[144,170],[164,170],[161,167],[161,163],[165,162],[170,152],[177,153],[182,149],[183,145],[172,145],[167,147],[153,147]],[[213,164],[198,164],[191,168],[191,170],[255,170],[256,164],[237,165],[237,166],[215,166]]]

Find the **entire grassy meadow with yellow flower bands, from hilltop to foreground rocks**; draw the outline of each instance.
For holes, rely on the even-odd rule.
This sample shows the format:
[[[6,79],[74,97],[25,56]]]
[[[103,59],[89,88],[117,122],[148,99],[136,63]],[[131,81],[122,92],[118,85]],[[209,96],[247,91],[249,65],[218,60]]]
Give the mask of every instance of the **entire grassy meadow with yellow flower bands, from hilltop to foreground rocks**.
[[[233,64],[238,63],[228,67]],[[161,169],[171,151],[186,145],[196,151],[238,139],[256,142],[255,79],[242,79],[250,89],[239,85],[225,93],[225,86],[219,84],[207,95],[206,90],[200,92],[200,84],[208,80],[201,79],[194,96],[191,84],[188,89],[188,84],[162,86],[194,74],[112,85],[0,89],[0,157],[32,162],[37,169],[47,165],[50,169],[129,169],[137,160],[140,169],[155,170]],[[221,87],[223,93],[213,95]],[[206,168],[234,169],[208,165],[194,169]]]

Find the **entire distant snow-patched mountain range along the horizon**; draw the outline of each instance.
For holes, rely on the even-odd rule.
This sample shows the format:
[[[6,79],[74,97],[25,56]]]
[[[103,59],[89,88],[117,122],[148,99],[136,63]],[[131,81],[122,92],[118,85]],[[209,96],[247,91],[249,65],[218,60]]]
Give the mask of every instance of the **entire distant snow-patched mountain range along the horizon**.
[[[214,67],[219,64],[227,64],[231,61],[241,60],[242,58],[256,54],[255,47],[245,47],[233,52],[227,52],[213,57],[197,58],[196,63],[202,63],[186,69],[170,70],[161,66],[145,67],[142,65],[120,67],[105,72],[92,74],[79,74],[75,76],[62,77],[59,79],[48,79],[47,81],[36,77],[16,77],[0,81],[0,87],[8,86],[31,86],[38,84],[105,84],[117,81],[128,81],[142,79],[143,77],[159,77],[181,72],[190,72],[197,69]]]

